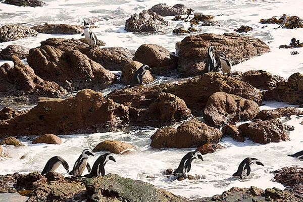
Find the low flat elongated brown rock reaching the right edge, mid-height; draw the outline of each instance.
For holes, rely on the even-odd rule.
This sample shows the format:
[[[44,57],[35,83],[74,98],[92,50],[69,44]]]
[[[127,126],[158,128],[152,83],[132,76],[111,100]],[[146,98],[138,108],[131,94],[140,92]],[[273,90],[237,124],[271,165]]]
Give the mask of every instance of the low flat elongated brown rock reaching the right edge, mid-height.
[[[286,117],[291,115],[296,115],[296,116],[303,115],[303,112],[294,107],[277,108],[274,110],[262,110],[257,114],[256,119],[261,119],[261,120],[277,119],[280,117]]]

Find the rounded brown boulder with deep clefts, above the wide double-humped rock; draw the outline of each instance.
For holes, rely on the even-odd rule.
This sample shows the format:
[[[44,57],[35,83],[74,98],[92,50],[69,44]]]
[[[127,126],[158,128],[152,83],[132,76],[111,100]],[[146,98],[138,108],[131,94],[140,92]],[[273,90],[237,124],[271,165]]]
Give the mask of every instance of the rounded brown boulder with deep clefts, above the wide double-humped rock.
[[[210,96],[204,109],[204,120],[209,126],[220,128],[229,123],[249,121],[259,112],[259,106],[252,100],[226,92]]]

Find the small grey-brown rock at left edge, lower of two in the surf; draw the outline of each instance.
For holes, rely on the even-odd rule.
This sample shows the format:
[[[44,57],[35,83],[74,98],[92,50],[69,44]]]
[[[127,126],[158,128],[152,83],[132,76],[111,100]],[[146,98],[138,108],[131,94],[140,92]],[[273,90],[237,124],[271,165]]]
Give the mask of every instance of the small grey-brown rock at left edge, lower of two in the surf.
[[[0,53],[0,60],[10,60],[11,56],[17,56],[21,60],[26,59],[29,48],[22,45],[8,45]]]

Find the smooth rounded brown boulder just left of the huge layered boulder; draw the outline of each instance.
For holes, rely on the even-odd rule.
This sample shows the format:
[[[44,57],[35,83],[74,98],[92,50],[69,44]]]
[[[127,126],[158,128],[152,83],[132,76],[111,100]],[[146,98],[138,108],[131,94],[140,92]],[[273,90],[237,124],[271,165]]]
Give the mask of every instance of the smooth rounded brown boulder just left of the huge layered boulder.
[[[168,49],[156,44],[143,44],[137,49],[134,61],[148,65],[153,74],[162,74],[177,69],[178,57]]]

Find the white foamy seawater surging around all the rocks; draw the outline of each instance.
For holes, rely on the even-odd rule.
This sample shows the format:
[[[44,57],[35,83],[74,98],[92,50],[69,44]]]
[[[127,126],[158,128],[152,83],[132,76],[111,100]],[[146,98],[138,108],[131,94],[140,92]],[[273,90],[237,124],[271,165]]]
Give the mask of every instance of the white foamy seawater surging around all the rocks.
[[[129,48],[133,53],[143,43],[159,44],[169,49],[169,51],[175,52],[175,43],[189,35],[172,34],[172,30],[176,27],[189,27],[188,23],[171,22],[172,16],[165,17],[166,20],[171,22],[171,26],[161,33],[130,33],[124,30],[125,20],[134,13],[148,10],[158,3],[163,3],[158,0],[90,0],[85,2],[78,0],[48,0],[44,2],[47,3],[47,6],[40,8],[20,8],[0,4],[0,26],[9,23],[26,26],[44,23],[82,24],[83,19],[90,19],[95,22],[95,25],[99,26],[99,28],[93,29],[93,31],[96,33],[98,39],[107,43],[107,47],[122,46]],[[193,8],[196,13],[214,15],[216,16],[214,20],[218,20],[222,24],[220,27],[197,27],[201,31],[191,34],[223,34],[233,32],[235,28],[241,25],[248,25],[254,28],[254,31],[243,35],[254,36],[265,42],[272,41],[268,43],[271,47],[271,53],[238,64],[233,67],[233,71],[244,72],[247,70],[262,69],[284,78],[288,78],[294,72],[303,72],[303,57],[301,56],[303,53],[292,56],[290,55],[290,51],[292,50],[278,48],[281,44],[289,44],[292,37],[302,41],[303,29],[273,29],[278,27],[278,25],[270,24],[266,28],[262,28],[264,24],[259,23],[261,18],[280,17],[282,14],[298,15],[303,18],[303,7],[300,0],[166,1],[166,4],[172,6],[179,3]],[[0,48],[5,48],[10,44],[19,44],[32,48],[39,46],[40,41],[50,37],[81,38],[81,35],[39,34],[37,37],[0,43]],[[295,50],[301,52],[300,48]],[[0,65],[5,62],[8,61],[0,61]],[[12,63],[9,62],[9,64]],[[155,82],[159,83],[161,79],[163,78],[158,78]],[[107,89],[105,92],[109,92],[111,89]],[[277,102],[266,102],[264,104],[261,110],[290,106]],[[30,106],[25,106],[24,108],[30,108]],[[273,174],[270,171],[285,166],[303,166],[302,161],[287,156],[287,154],[293,154],[303,148],[303,136],[301,135],[303,117],[291,116],[290,118],[281,118],[281,120],[295,126],[294,131],[288,132],[290,141],[263,145],[250,140],[236,142],[231,138],[223,138],[221,144],[226,146],[226,149],[221,149],[214,154],[204,155],[203,162],[195,161],[193,163],[189,174],[205,176],[205,179],[195,181],[171,181],[161,173],[168,168],[176,169],[181,158],[188,151],[195,148],[150,148],[150,136],[154,134],[157,130],[156,128],[141,128],[127,134],[123,132],[110,132],[60,136],[63,140],[61,145],[34,145],[31,144],[31,141],[35,137],[21,137],[19,140],[26,145],[25,147],[3,146],[4,157],[1,157],[0,161],[0,174],[41,172],[47,160],[53,156],[64,158],[69,163],[71,170],[83,149],[92,149],[103,140],[115,139],[133,144],[136,147],[136,151],[127,155],[114,155],[117,162],[107,163],[105,168],[106,173],[116,173],[123,177],[147,181],[178,195],[192,199],[212,196],[214,194],[221,194],[233,186],[250,187],[253,185],[263,189],[275,186],[283,189],[281,184],[271,181]],[[99,152],[95,154],[95,157],[89,158],[88,162],[90,165],[92,166],[94,160],[102,154],[104,153]],[[25,158],[21,160],[20,157],[23,155],[25,155]],[[265,167],[252,165],[251,174],[248,178],[243,180],[233,178],[232,174],[246,157],[260,159]],[[62,166],[57,171],[67,176]],[[84,174],[86,173],[87,171],[84,172]],[[146,178],[147,176],[152,176],[153,178]],[[0,198],[3,197],[0,196]]]

